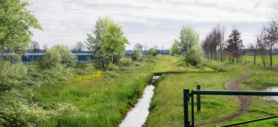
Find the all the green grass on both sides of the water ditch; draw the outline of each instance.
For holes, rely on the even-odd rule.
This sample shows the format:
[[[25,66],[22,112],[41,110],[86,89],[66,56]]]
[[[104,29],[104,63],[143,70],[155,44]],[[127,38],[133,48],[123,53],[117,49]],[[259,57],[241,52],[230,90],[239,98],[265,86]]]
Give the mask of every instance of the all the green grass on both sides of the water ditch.
[[[218,71],[206,67],[204,70],[198,70],[174,66],[173,63],[178,57],[168,55],[161,57],[162,60],[157,63],[120,71],[120,77],[109,80],[104,78],[101,71],[91,68],[90,75],[40,87],[35,93],[40,101],[53,105],[65,102],[77,109],[76,112],[53,117],[41,126],[117,126],[141,97],[153,75],[161,77],[154,83],[155,92],[145,126],[183,126],[183,89],[196,89],[196,85],[199,84],[202,90],[227,90],[224,86],[226,82],[245,74],[233,66],[253,70],[249,75],[250,78],[240,84],[242,90],[264,90],[267,87],[278,86],[277,71],[267,70],[262,66],[254,67],[251,63],[246,65],[204,60],[205,66]],[[125,59],[131,62],[130,58]],[[196,99],[194,104],[196,105]],[[239,101],[235,96],[201,95],[201,112],[196,112],[196,107],[194,109],[195,124],[230,116],[238,109]],[[231,121],[204,126],[225,125],[273,116],[278,114],[277,109],[277,105],[262,104],[253,100],[248,112],[242,116]],[[276,118],[244,126],[278,126],[277,121]]]

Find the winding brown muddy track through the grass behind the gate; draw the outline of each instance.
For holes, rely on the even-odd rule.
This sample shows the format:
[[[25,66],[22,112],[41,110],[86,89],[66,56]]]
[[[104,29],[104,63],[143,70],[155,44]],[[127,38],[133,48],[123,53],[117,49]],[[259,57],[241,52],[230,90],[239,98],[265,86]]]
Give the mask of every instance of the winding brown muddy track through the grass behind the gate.
[[[234,68],[244,71],[245,76],[243,76],[242,78],[234,79],[234,80],[226,83],[225,87],[230,91],[241,91],[241,88],[238,86],[238,84],[240,82],[242,82],[244,79],[248,78],[248,75],[251,74],[251,72],[248,71],[248,70],[237,68],[237,67],[234,67]],[[196,126],[202,126],[202,125],[206,125],[206,124],[221,123],[221,122],[224,122],[224,121],[229,121],[233,118],[241,116],[242,113],[247,112],[247,109],[249,108],[250,104],[252,103],[250,97],[249,96],[236,96],[236,97],[238,98],[239,103],[240,103],[239,110],[236,113],[234,113],[231,116],[224,117],[224,118],[222,118],[218,121],[201,123],[201,124],[197,124]]]

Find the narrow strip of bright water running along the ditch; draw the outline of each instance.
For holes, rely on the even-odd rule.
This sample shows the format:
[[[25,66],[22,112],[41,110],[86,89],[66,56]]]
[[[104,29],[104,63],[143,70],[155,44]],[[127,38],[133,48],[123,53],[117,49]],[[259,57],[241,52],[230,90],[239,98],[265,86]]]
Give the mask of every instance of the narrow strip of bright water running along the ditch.
[[[145,88],[142,98],[138,99],[138,103],[135,107],[127,113],[124,120],[119,125],[120,127],[141,127],[145,123],[150,113],[148,110],[150,101],[154,95],[153,83],[158,78],[159,76],[154,76],[152,78],[152,83]]]

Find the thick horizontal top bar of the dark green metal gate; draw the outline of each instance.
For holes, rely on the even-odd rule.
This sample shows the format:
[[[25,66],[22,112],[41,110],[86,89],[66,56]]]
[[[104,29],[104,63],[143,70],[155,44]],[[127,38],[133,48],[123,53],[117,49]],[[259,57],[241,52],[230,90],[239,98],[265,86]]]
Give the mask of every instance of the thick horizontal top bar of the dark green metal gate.
[[[255,96],[278,96],[278,92],[272,91],[205,91],[192,90],[193,94],[200,95],[255,95]]]

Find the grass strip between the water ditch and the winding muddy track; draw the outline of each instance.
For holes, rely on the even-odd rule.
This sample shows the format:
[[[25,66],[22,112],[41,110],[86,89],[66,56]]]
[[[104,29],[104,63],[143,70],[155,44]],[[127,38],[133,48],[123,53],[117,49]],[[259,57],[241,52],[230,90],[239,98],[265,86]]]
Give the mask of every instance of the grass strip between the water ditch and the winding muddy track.
[[[193,90],[199,84],[202,90],[226,90],[224,84],[227,81],[244,75],[237,69],[220,68],[217,67],[219,65],[209,62],[206,64],[216,70],[225,70],[225,72],[208,69],[162,74],[155,84],[156,88],[146,126],[183,126],[183,89]],[[235,96],[202,95],[202,111],[195,112],[195,118],[198,119],[196,124],[231,115],[238,109],[238,103]],[[190,112],[189,109],[189,114]]]

